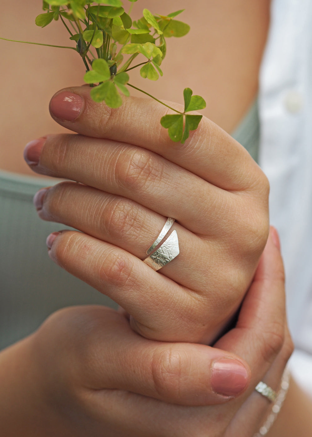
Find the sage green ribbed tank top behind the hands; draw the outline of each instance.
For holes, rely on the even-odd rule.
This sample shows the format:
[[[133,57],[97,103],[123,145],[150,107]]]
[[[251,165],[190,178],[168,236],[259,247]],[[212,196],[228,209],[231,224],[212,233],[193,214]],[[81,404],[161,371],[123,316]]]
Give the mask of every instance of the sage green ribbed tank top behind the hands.
[[[257,102],[233,137],[257,160]],[[0,171],[0,348],[32,333],[59,308],[85,304],[117,306],[48,257],[46,237],[66,226],[38,218],[32,198],[40,188],[53,184],[53,179]]]

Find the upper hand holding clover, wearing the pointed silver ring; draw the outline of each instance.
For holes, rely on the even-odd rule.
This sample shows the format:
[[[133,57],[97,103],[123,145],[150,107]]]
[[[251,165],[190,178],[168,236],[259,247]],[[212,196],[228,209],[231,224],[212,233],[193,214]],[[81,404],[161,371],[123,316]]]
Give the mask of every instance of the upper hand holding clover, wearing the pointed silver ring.
[[[267,239],[260,168],[208,119],[186,144],[173,143],[154,101],[128,98],[111,110],[80,87],[50,107],[81,135],[48,136],[26,159],[37,173],[84,184],[36,197],[41,218],[84,232],[60,234],[52,259],[125,308],[143,336],[211,343],[238,309]],[[168,216],[180,254],[155,272],[141,260]]]

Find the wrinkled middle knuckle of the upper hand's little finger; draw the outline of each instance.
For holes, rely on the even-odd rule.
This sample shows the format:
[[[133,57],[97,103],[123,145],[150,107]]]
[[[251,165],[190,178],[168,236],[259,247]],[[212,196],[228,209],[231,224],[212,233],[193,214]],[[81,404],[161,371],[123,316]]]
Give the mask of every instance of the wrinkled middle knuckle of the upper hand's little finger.
[[[117,251],[109,252],[99,266],[101,280],[118,288],[134,285],[133,270],[129,258]]]

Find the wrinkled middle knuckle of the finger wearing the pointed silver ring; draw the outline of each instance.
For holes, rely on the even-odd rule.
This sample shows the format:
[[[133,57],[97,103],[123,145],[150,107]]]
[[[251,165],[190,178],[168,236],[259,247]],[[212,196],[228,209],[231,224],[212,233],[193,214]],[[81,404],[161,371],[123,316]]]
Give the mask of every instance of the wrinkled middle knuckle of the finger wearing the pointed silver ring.
[[[108,212],[103,212],[103,222],[107,234],[113,239],[126,235],[127,239],[135,242],[142,232],[139,208],[126,199],[112,201]]]

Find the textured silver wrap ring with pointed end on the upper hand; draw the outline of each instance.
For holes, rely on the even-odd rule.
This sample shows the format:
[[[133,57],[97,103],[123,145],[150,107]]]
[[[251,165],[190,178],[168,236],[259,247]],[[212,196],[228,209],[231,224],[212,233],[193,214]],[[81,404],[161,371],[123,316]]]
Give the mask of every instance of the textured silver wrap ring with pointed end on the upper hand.
[[[166,264],[170,263],[177,255],[180,253],[179,240],[177,236],[177,231],[171,232],[168,238],[165,239],[163,244],[157,248],[159,243],[166,237],[168,231],[174,223],[174,218],[168,217],[163,229],[160,231],[159,236],[156,238],[154,243],[146,250],[149,255],[145,260],[143,260],[149,267],[153,270],[159,270]]]

